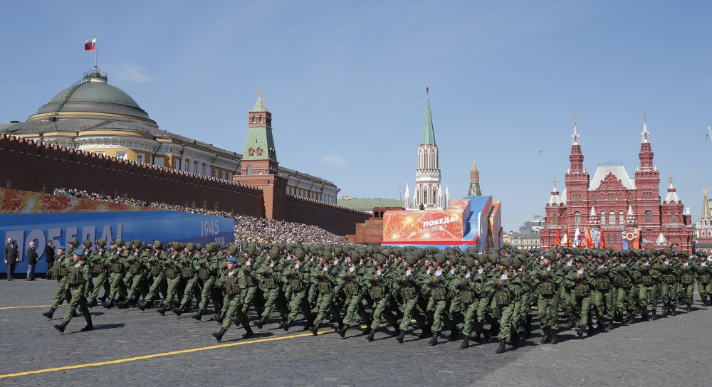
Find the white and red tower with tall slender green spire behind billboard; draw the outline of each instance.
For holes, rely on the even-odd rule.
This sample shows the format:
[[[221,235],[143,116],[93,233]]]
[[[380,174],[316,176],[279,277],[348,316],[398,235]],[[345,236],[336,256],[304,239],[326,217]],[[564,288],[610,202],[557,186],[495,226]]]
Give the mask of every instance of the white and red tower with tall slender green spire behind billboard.
[[[446,208],[441,182],[438,158],[438,144],[435,142],[433,117],[430,112],[430,89],[425,88],[425,115],[423,128],[418,144],[418,169],[415,171],[415,191],[413,206],[415,208],[442,209]]]

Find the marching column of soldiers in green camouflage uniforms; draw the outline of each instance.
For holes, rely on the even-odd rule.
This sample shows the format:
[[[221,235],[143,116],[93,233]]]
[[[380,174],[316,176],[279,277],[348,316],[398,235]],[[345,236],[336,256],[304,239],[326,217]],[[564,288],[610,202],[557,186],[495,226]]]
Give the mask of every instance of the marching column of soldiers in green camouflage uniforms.
[[[543,330],[541,342],[556,344],[560,322],[577,336],[691,311],[697,287],[701,302],[712,299],[712,258],[671,250],[578,250],[548,252],[470,248],[381,248],[359,245],[227,245],[217,243],[145,243],[71,240],[58,248],[53,276],[58,290],[51,318],[63,301],[63,332],[80,309],[93,328],[87,307],[155,307],[162,315],[193,312],[200,320],[211,305],[220,329],[239,324],[243,338],[253,335],[276,312],[288,331],[300,317],[305,330],[318,334],[323,324],[347,337],[364,324],[373,341],[392,329],[399,343],[414,329],[430,345],[448,332],[486,343],[495,338],[497,353],[506,344],[530,338],[533,309]],[[72,252],[71,257],[66,252]],[[98,298],[101,290],[104,294]],[[160,296],[160,298],[159,298]],[[140,301],[142,299],[142,301]],[[661,314],[658,314],[659,310]],[[251,313],[253,312],[253,313]],[[253,314],[253,321],[249,316]]]

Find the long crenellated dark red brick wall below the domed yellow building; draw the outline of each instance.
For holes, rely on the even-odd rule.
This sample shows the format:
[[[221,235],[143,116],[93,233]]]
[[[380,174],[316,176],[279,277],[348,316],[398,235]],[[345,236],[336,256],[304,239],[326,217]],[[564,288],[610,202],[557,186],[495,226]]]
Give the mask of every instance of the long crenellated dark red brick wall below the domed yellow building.
[[[27,191],[85,189],[145,201],[264,217],[261,189],[0,134],[0,184]]]

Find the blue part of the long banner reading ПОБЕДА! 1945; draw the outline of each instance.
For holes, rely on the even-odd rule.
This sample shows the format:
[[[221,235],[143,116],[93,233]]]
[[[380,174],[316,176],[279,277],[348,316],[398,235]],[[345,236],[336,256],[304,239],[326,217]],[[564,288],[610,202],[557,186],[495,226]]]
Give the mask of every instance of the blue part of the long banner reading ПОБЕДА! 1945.
[[[21,261],[15,267],[17,273],[27,271],[27,249],[34,241],[39,255],[35,272],[41,273],[47,270],[44,253],[48,240],[53,241],[55,249],[59,245],[68,246],[68,241],[73,238],[79,243],[98,239],[108,243],[122,238],[126,241],[218,242],[226,245],[235,240],[235,221],[177,211],[1,214],[0,235],[3,236],[3,246],[8,238],[12,238],[20,250]],[[4,273],[7,270],[5,249],[0,253],[0,272]]]

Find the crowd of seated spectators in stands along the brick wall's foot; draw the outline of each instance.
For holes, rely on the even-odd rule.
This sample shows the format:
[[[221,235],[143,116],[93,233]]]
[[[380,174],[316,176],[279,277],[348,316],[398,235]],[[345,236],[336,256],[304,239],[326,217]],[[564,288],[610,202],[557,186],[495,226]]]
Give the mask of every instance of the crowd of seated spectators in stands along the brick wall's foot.
[[[235,241],[256,243],[315,243],[336,245],[348,243],[346,238],[335,235],[304,223],[276,221],[274,219],[255,218],[253,216],[236,215],[226,211],[197,206],[179,206],[176,204],[148,202],[120,195],[96,194],[78,189],[56,189],[55,195],[88,198],[110,203],[123,203],[131,206],[159,208],[166,211],[199,213],[209,216],[223,216],[235,219]]]

